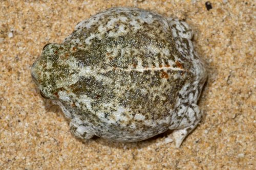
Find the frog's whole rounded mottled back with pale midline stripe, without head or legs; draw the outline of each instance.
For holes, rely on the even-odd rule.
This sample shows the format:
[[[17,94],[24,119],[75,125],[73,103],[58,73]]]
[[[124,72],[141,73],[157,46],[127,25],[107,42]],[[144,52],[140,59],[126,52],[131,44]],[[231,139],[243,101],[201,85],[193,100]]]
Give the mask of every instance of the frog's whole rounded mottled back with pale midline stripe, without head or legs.
[[[79,63],[78,81],[65,87],[75,100],[61,101],[75,124],[82,121],[91,131],[99,128],[97,136],[122,141],[168,129],[178,92],[194,75],[190,62],[179,63],[165,18],[113,8],[78,23],[64,44]]]

